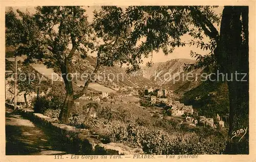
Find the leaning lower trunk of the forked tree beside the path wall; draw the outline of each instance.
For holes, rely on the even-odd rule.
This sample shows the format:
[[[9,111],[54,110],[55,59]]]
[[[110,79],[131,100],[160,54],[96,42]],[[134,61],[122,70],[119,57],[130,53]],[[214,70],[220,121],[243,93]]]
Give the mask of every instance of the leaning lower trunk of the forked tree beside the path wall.
[[[71,75],[69,74],[69,67],[68,67],[67,60],[66,60],[66,63],[63,63],[61,65],[61,73],[62,73],[62,78],[64,80],[65,87],[66,87],[66,97],[61,107],[59,120],[62,123],[68,124],[69,117],[72,113],[72,108],[74,105],[74,92],[73,92],[72,78],[71,78]]]

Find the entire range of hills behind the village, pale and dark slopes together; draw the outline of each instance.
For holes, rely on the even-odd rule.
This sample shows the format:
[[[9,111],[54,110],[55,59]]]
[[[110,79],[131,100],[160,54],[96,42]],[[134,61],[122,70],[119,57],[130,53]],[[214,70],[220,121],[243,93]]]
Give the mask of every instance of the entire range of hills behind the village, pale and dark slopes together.
[[[11,62],[14,61],[13,58],[7,58],[7,60]],[[76,53],[70,64],[71,73],[82,74],[86,72],[90,74],[94,70],[95,63],[95,57],[88,56],[86,59],[81,59],[79,53]],[[183,71],[183,67],[184,64],[191,63],[195,63],[195,61],[189,59],[173,59],[164,63],[155,63],[152,67],[142,67],[140,71],[133,74],[127,74],[125,68],[118,66],[100,67],[98,72],[99,77],[96,76],[97,79],[95,80],[95,82],[99,84],[98,86],[96,85],[96,89],[100,85],[111,88],[112,90],[120,88],[127,89],[129,87],[141,88],[143,86],[157,87],[161,85],[166,89],[173,90],[184,104],[193,105],[200,115],[211,116],[215,113],[219,115],[228,113],[227,85],[209,81],[200,82],[200,79],[192,79],[192,81],[186,80],[188,72]],[[37,72],[40,72],[40,66],[33,65],[31,66]],[[7,70],[8,69],[11,68],[7,65]],[[54,68],[51,71],[60,74],[58,68]],[[202,72],[203,70],[201,69],[193,70],[189,75],[200,75]],[[81,80],[78,76],[78,79],[74,78],[74,80],[74,89],[75,91],[79,91],[79,87],[84,84],[85,79]],[[64,85],[61,84],[61,87],[64,91]],[[95,91],[95,87],[89,86],[89,91],[90,90]]]

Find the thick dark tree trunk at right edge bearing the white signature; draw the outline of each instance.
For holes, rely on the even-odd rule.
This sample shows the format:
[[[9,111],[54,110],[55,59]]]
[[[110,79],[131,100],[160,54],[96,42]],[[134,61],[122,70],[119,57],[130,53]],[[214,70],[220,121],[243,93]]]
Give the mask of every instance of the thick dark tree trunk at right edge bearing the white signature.
[[[230,80],[227,82],[230,108],[226,154],[249,153],[248,49],[248,7],[224,7],[217,62]]]

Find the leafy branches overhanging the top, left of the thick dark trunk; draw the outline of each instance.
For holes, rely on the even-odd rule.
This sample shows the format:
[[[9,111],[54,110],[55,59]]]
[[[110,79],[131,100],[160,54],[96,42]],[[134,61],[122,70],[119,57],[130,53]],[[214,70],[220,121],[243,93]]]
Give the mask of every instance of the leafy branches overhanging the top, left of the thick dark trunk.
[[[112,49],[112,55],[121,58],[121,64],[129,65],[127,72],[131,72],[138,70],[142,57],[151,57],[153,50],[159,52],[162,49],[168,55],[176,47],[192,45],[194,42],[189,44],[181,40],[181,36],[185,34],[199,40],[206,35],[214,46],[218,32],[213,24],[220,22],[214,8],[216,7],[130,6],[123,9],[103,6],[100,11],[94,12],[94,29],[98,37],[105,38],[104,41],[122,38],[115,49]],[[213,57],[211,54],[209,53],[210,57]],[[115,57],[112,59],[115,61]]]

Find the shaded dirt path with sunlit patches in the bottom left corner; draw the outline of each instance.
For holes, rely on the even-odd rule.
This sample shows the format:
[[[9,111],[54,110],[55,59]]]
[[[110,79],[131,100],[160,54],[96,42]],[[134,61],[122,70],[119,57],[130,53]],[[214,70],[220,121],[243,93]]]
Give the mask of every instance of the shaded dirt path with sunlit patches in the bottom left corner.
[[[53,131],[6,108],[6,155],[69,154]]]

